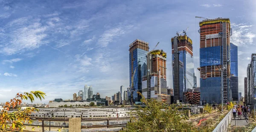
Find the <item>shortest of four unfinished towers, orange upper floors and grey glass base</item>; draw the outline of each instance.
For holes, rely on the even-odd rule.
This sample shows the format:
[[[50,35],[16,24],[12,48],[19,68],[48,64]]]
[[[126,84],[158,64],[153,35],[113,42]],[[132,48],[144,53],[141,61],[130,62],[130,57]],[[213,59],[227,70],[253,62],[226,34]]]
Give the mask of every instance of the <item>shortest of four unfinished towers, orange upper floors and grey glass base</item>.
[[[157,99],[158,94],[167,95],[166,52],[163,50],[148,52],[147,67],[148,73],[142,80],[142,95],[146,99]]]

